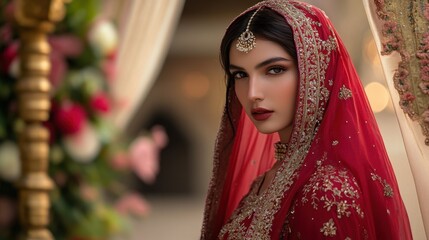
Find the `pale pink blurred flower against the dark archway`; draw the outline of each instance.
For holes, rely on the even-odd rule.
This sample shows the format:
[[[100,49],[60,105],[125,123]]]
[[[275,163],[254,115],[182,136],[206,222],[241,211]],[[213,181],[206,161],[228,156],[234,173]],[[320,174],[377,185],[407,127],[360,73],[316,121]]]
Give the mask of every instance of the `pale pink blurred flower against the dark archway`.
[[[153,183],[159,171],[158,147],[149,137],[139,137],[130,146],[130,163],[137,176]]]

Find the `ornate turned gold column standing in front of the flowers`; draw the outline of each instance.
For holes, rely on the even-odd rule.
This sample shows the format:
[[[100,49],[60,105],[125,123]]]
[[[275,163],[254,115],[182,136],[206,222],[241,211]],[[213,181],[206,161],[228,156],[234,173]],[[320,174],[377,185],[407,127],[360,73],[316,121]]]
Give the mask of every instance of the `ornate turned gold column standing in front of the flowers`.
[[[50,71],[47,34],[64,17],[64,0],[17,0],[15,18],[20,28],[20,77],[16,86],[20,118],[22,176],[18,182],[19,211],[26,240],[50,240],[47,174],[49,132],[42,125],[50,110]]]

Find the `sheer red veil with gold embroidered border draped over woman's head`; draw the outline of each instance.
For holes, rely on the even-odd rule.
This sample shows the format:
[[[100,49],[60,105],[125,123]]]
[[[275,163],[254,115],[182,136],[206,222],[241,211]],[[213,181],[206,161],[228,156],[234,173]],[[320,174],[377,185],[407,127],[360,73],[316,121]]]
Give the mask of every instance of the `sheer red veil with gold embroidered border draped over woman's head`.
[[[279,137],[274,133],[259,133],[235,92],[230,91],[215,147],[201,239],[218,239],[223,228],[227,231],[221,233],[221,238],[285,236],[285,222],[294,211],[292,206],[297,196],[306,191],[305,186],[315,173],[329,173],[326,169],[340,169],[333,173],[350,176],[347,179],[351,180],[343,182],[343,187],[353,182],[358,189],[350,188],[353,193],[338,191],[333,196],[353,195],[356,202],[321,205],[320,208],[332,208],[337,214],[329,221],[312,219],[323,221],[320,223],[302,218],[298,228],[308,231],[303,236],[411,239],[408,216],[374,115],[351,59],[328,17],[314,6],[287,0],[260,2],[244,13],[261,7],[284,16],[294,34],[300,80],[292,136],[286,159],[272,184],[261,196],[253,196],[249,189],[258,182],[258,176],[272,167],[273,145]],[[326,187],[331,181],[329,176],[322,177],[325,182],[321,185]],[[323,197],[312,196],[309,201],[317,205],[320,199]],[[352,208],[362,218],[359,226],[342,220],[347,217],[341,219],[340,213]],[[234,225],[234,221],[238,224]],[[323,227],[312,232],[307,224]],[[321,232],[325,235],[316,235]]]

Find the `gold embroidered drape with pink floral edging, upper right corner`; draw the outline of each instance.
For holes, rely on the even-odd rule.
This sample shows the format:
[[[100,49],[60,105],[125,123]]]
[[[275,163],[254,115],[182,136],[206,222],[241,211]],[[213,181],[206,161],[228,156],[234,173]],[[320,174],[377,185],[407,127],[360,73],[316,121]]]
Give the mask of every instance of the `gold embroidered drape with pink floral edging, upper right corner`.
[[[382,55],[397,51],[401,61],[393,75],[399,105],[426,136],[429,146],[429,3],[421,0],[374,0],[382,21]]]

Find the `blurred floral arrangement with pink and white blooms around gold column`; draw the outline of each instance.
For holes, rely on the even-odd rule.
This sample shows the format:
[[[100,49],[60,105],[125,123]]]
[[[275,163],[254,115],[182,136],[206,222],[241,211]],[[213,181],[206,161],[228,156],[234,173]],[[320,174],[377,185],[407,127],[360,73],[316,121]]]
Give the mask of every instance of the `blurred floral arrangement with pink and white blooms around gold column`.
[[[20,177],[16,138],[23,123],[17,116],[14,84],[19,75],[19,41],[13,24],[14,3],[0,2],[0,240],[17,239],[17,189]],[[127,216],[149,210],[138,193],[130,192],[123,176],[135,171],[151,183],[158,171],[158,152],[167,136],[160,126],[120,144],[109,123],[117,107],[109,93],[115,79],[118,34],[114,23],[100,17],[98,0],[73,0],[65,19],[49,37],[52,109],[49,175],[50,230],[55,239],[106,239],[123,232]]]

